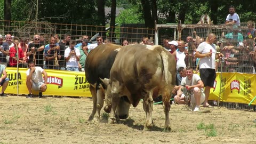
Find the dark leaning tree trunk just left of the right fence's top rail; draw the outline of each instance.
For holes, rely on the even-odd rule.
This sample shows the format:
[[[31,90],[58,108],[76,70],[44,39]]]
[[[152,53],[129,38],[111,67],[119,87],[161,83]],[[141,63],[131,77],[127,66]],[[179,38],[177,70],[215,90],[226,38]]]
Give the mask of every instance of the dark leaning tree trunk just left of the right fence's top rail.
[[[147,28],[154,28],[154,21],[151,16],[150,3],[148,0],[141,0],[143,17]]]

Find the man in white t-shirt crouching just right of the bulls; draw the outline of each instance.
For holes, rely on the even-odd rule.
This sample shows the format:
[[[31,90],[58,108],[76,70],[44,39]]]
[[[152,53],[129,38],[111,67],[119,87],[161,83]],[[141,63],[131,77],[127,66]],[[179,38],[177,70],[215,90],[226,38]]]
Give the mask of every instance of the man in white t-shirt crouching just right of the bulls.
[[[193,93],[191,94],[191,101],[190,101],[191,109],[193,111],[200,111],[200,104],[203,103],[205,100],[205,94],[203,89],[204,83],[197,74],[193,74],[192,67],[187,67],[186,74],[187,76],[182,79],[181,87],[178,90],[177,95],[175,95],[174,101],[179,104],[185,104],[186,103],[184,101],[185,95],[182,93],[181,89],[187,89],[188,91],[192,91]]]

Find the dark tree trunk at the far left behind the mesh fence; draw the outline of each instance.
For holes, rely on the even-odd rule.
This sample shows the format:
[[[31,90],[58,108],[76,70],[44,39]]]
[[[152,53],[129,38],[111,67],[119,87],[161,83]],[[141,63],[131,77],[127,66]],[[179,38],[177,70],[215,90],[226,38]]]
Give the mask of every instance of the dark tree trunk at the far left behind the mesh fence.
[[[11,0],[4,0],[4,31],[11,31]]]

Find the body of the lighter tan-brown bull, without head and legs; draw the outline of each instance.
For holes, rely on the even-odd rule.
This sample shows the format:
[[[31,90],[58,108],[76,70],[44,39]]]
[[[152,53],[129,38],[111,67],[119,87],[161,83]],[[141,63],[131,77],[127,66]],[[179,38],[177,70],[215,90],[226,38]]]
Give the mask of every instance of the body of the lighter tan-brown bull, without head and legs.
[[[132,95],[133,106],[137,105],[140,99],[138,95],[143,89],[153,89],[161,85],[164,65],[160,53],[166,55],[167,69],[173,74],[176,69],[175,59],[162,46],[128,45],[118,52],[110,79],[125,85]],[[175,73],[170,79],[175,82]]]

